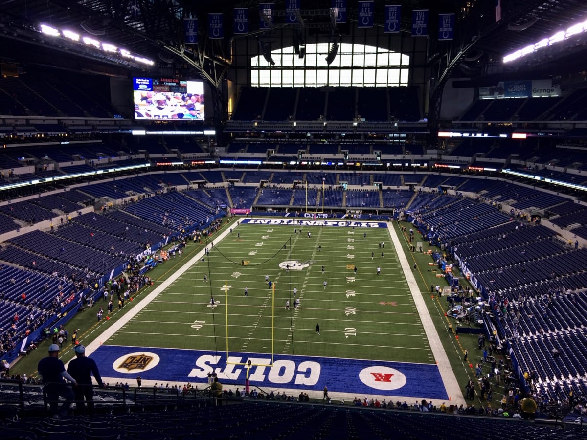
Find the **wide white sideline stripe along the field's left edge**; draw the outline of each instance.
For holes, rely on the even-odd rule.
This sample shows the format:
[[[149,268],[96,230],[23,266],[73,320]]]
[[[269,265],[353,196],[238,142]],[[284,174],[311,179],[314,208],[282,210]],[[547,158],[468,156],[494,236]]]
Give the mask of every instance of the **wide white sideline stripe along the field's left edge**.
[[[235,231],[237,227],[238,225],[231,226],[232,231]],[[230,228],[227,228],[225,229],[225,231],[221,232],[217,236],[214,236],[214,241],[220,242],[222,239],[225,238],[225,236],[229,235],[230,233]],[[129,323],[131,319],[137,316],[139,312],[142,312],[143,309],[151,303],[151,301],[153,301],[154,299],[156,299],[157,296],[163,293],[163,291],[167,289],[167,287],[169,287],[171,283],[175,282],[181,275],[184,274],[184,272],[190,269],[195,263],[200,261],[205,255],[206,248],[207,246],[204,246],[204,249],[202,249],[195,256],[193,256],[180,269],[176,270],[176,272],[174,272],[173,275],[170,275],[170,277],[168,277],[163,283],[161,283],[160,286],[157,286],[156,289],[153,290],[153,292],[149,293],[149,295],[144,297],[144,299],[142,299],[139,302],[139,304],[134,306],[133,309],[130,310],[130,312],[125,313],[124,316],[122,316],[118,321],[116,321],[116,323],[114,323],[108,329],[104,330],[102,334],[100,334],[100,336],[96,337],[95,340],[87,344],[86,356],[89,356],[93,353],[93,351],[96,351],[102,345],[102,341],[107,341],[108,339],[110,339],[110,337],[117,333],[117,331],[119,331],[120,329],[122,329],[123,326]]]

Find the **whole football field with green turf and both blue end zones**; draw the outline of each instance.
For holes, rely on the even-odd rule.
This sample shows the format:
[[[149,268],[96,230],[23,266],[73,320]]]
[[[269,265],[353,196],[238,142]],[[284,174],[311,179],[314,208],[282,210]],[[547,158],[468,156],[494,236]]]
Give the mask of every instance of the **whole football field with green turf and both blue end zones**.
[[[446,398],[387,225],[330,223],[243,219],[212,237],[102,341],[103,375]]]

